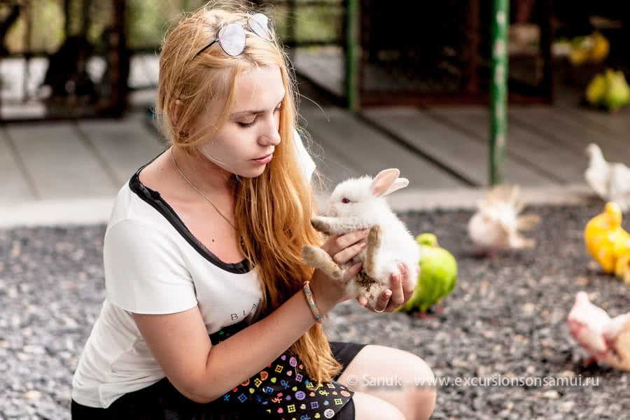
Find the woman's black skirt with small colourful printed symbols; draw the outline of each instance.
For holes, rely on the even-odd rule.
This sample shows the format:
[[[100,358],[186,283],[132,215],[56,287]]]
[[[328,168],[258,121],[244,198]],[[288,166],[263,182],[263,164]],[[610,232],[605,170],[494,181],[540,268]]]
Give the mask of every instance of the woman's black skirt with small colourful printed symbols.
[[[237,324],[224,328],[211,335],[211,341],[213,344],[221,342],[244,326]],[[345,368],[364,345],[331,342],[330,348]],[[265,370],[207,404],[189,400],[164,378],[147,388],[123,395],[106,409],[86,407],[72,401],[72,419],[354,420],[353,392],[336,380],[314,388],[304,377],[301,367],[300,360],[286,351]]]

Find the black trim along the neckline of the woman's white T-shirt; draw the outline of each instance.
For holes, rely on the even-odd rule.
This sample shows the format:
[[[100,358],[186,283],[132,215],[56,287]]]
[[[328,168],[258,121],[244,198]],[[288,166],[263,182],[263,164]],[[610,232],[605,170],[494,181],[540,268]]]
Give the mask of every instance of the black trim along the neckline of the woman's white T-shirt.
[[[151,163],[151,162],[149,162]],[[206,258],[212,264],[217,267],[224,269],[227,272],[235,273],[235,274],[245,274],[251,270],[251,266],[249,264],[249,260],[244,259],[241,262],[223,262],[221,261],[214,253],[212,253],[208,248],[202,244],[199,239],[197,239],[190,230],[183,223],[181,218],[177,215],[175,210],[162,198],[162,195],[158,193],[158,191],[151,190],[151,188],[146,187],[140,181],[140,172],[144,169],[148,164],[144,165],[134,176],[129,180],[129,188],[134,192],[138,197],[141,198],[148,205],[157,210],[162,216],[164,216],[171,225],[179,232],[179,234],[186,239],[190,246],[193,246],[195,250],[202,255],[202,257]]]

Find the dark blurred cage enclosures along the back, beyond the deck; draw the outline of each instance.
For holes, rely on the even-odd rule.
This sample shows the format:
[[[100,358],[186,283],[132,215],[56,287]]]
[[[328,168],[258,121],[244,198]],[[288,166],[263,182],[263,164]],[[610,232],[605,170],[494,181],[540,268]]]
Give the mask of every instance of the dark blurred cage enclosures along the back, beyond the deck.
[[[0,0],[1,120],[121,116],[151,104],[169,22],[203,3]],[[349,75],[360,108],[488,101],[491,0],[253,3],[273,18],[298,75],[338,104]],[[510,102],[573,94],[577,105],[596,73],[628,73],[629,29],[624,1],[512,0]]]

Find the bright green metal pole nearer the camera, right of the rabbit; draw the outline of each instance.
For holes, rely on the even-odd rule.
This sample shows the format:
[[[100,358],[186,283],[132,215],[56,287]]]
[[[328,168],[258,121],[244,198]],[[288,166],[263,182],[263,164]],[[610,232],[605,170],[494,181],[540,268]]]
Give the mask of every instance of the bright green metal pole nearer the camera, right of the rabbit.
[[[492,13],[492,62],[490,101],[490,185],[503,181],[503,156],[507,139],[507,26],[510,1],[494,0]]]

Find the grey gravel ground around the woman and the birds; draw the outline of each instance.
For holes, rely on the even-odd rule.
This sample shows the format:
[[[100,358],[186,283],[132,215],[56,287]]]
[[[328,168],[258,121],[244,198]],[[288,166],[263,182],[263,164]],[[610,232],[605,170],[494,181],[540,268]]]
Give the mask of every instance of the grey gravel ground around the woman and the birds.
[[[584,224],[602,208],[531,209],[542,217],[538,246],[491,259],[472,255],[469,211],[405,214],[412,232],[435,232],[458,260],[444,311],[420,319],[342,304],[329,337],[397,346],[436,377],[461,378],[439,388],[433,419],[627,418],[630,374],[582,367],[565,323],[577,290],[611,315],[630,307],[628,288],[584,250]],[[102,225],[0,230],[0,419],[69,419],[72,372],[104,297],[103,234]],[[497,385],[510,377],[519,384]],[[546,386],[533,383],[542,379]],[[587,379],[595,385],[578,386]]]

